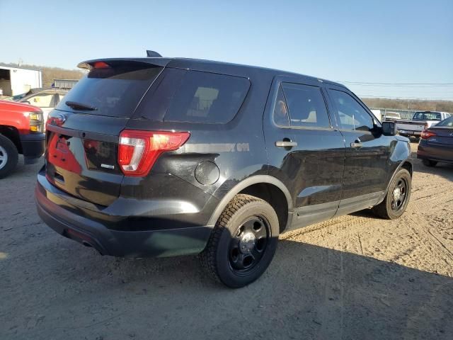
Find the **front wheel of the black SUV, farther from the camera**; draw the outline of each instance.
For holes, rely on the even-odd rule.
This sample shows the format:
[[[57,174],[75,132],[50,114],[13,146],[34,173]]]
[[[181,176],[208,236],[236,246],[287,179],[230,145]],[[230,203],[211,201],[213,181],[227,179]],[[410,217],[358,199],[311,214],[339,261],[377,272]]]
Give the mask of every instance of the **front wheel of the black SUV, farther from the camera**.
[[[411,188],[411,174],[406,169],[399,169],[382,203],[372,208],[374,214],[387,220],[403,215],[411,198]]]

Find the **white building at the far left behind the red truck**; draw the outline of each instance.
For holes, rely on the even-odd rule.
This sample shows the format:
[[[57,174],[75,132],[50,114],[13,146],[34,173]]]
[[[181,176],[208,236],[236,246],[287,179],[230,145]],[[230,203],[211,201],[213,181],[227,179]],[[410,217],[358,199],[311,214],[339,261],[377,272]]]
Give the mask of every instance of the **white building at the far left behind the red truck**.
[[[0,96],[25,94],[30,89],[42,87],[42,72],[39,69],[13,67],[0,64]]]

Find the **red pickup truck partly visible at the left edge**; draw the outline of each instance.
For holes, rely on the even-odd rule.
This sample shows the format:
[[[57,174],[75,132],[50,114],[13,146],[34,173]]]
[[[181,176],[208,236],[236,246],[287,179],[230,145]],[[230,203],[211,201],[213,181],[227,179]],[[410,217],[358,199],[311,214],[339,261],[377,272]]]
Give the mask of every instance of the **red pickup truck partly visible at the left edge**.
[[[0,101],[0,179],[16,168],[18,154],[25,164],[38,162],[45,150],[44,119],[40,108]]]

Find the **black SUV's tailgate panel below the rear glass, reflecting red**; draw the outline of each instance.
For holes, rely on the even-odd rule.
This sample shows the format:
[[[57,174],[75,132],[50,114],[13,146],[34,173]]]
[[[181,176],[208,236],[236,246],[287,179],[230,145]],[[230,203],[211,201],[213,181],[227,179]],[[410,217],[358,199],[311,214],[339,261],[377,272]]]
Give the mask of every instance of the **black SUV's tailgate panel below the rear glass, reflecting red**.
[[[110,205],[120,195],[123,174],[117,166],[117,136],[127,119],[89,118],[96,120],[92,126],[109,124],[110,134],[47,125],[46,177],[73,196]],[[112,119],[116,120],[116,129],[111,121],[105,121]]]

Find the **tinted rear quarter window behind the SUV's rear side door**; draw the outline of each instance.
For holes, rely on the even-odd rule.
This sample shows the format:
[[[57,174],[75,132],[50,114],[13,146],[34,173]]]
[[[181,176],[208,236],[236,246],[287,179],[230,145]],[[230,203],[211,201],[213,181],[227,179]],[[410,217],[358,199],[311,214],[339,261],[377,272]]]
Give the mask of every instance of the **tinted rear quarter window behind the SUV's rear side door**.
[[[239,111],[250,81],[241,77],[188,71],[180,81],[164,121],[228,123]]]

